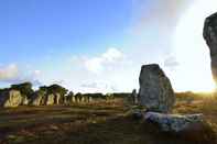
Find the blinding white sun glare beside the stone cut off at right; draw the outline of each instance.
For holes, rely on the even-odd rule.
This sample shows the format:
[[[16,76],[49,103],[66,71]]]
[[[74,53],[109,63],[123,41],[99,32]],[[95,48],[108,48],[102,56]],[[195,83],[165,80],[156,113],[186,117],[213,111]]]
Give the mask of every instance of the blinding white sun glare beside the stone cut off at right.
[[[205,18],[216,10],[217,1],[198,0],[178,21],[174,36],[174,51],[180,63],[176,76],[183,76],[178,81],[183,89],[193,91],[215,89],[209,65],[209,51],[203,40],[203,26]],[[194,85],[188,81],[194,81]]]

